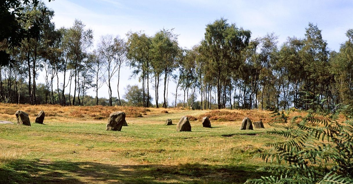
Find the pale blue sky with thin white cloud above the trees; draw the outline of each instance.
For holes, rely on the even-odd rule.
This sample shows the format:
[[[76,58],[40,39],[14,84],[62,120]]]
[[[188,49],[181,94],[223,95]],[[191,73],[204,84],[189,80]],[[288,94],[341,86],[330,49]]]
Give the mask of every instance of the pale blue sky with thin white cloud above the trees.
[[[251,38],[274,32],[279,46],[287,37],[304,37],[308,23],[317,24],[330,50],[339,51],[347,40],[345,33],[353,28],[351,0],[54,0],[45,1],[54,10],[56,28],[69,28],[80,19],[94,31],[95,45],[101,35],[126,37],[128,31],[157,31],[174,29],[179,45],[191,48],[204,37],[207,24],[219,18],[228,19],[238,27],[251,31]],[[93,48],[94,48],[93,47]],[[127,84],[139,84],[131,78],[131,70],[122,71],[120,94]],[[115,80],[116,82],[116,80]],[[170,85],[170,90],[175,87]],[[105,88],[105,89],[104,89]],[[162,88],[162,87],[161,87]],[[103,87],[98,96],[108,97]],[[99,92],[99,91],[98,91]],[[150,91],[153,93],[153,91]],[[175,93],[175,92],[174,92]],[[113,92],[113,96],[117,92]],[[160,93],[162,94],[162,93]],[[95,96],[93,90],[89,95]],[[171,95],[171,94],[169,94]],[[153,96],[153,95],[152,95]],[[172,100],[171,97],[170,101]],[[160,99],[163,99],[163,97]]]

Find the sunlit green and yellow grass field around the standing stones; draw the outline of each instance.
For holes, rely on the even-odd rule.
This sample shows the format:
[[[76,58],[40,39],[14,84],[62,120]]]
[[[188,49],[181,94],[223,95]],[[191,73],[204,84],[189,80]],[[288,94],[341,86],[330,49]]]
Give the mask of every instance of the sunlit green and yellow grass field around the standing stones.
[[[257,170],[265,163],[256,155],[279,139],[269,129],[239,130],[241,119],[211,120],[211,129],[191,121],[192,132],[164,125],[210,113],[183,109],[126,107],[129,126],[106,131],[105,116],[92,117],[98,108],[116,110],[0,104],[0,120],[16,122],[14,112],[23,109],[32,124],[0,124],[0,183],[244,183],[268,175]],[[44,125],[34,123],[41,109]],[[225,111],[269,118],[266,111]]]

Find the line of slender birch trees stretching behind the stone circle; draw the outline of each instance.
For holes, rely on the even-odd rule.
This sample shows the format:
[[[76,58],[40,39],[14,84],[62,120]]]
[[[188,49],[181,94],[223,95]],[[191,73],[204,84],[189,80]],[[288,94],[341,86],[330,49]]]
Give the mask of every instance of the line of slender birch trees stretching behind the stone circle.
[[[324,101],[315,108],[334,110],[352,103],[352,29],[339,52],[328,49],[321,30],[312,23],[303,37],[288,37],[279,44],[274,33],[251,38],[250,30],[224,18],[207,24],[204,38],[190,49],[179,46],[173,29],[154,35],[128,32],[126,39],[103,35],[94,46],[93,31],[80,20],[70,28],[56,29],[54,12],[43,2],[14,7],[20,8],[10,11],[6,6],[5,14],[20,15],[14,25],[22,32],[15,35],[23,36],[13,41],[15,36],[1,35],[3,103],[309,109],[314,106],[308,96]],[[121,95],[124,66],[132,69],[131,76],[142,88],[128,86]],[[44,84],[36,82],[40,72]],[[112,86],[116,78],[118,84]],[[98,98],[103,85],[108,87],[105,100]],[[90,89],[95,100],[87,95]]]

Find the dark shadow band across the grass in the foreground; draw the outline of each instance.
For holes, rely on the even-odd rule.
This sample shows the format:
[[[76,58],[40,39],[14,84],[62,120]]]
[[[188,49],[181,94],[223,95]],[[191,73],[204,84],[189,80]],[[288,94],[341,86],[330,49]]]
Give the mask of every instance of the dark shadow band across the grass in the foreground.
[[[109,165],[98,162],[6,161],[0,183],[244,183],[267,176],[253,165]]]

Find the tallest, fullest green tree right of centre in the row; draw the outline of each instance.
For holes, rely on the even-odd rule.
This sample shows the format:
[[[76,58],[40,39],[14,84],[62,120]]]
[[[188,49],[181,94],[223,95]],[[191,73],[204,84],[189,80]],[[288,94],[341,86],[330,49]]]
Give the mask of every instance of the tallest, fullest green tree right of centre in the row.
[[[210,72],[215,76],[219,109],[222,108],[221,94],[226,90],[226,79],[233,71],[230,69],[239,66],[238,56],[249,44],[250,34],[250,31],[237,28],[235,24],[228,24],[227,19],[223,18],[206,27],[201,45],[203,53],[209,58]]]

